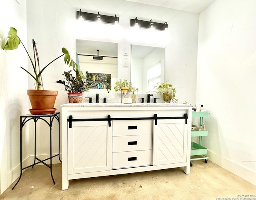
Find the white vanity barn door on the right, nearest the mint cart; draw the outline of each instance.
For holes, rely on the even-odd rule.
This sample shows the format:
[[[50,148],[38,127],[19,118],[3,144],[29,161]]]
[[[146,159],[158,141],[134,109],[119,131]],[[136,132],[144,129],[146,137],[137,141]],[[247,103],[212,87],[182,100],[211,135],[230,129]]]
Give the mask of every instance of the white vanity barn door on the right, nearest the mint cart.
[[[160,119],[154,125],[153,165],[186,162],[188,125],[185,119]]]

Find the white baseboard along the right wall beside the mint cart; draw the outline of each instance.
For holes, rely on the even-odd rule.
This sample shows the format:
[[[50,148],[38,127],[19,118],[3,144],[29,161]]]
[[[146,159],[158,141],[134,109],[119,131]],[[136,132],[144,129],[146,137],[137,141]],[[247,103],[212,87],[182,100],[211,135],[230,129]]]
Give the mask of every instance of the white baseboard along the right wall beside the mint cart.
[[[220,156],[219,154],[216,154],[210,150],[207,150],[207,156],[212,162],[220,165],[224,169],[236,174],[236,176],[239,176],[256,186],[256,172],[245,168],[232,160],[228,160],[227,158],[224,158],[223,156]]]

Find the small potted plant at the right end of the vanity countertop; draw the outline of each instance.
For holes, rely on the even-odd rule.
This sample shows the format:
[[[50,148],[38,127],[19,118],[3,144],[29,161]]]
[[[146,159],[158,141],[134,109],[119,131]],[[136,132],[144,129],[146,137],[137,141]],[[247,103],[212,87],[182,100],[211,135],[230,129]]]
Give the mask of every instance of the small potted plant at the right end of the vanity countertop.
[[[171,101],[173,103],[177,103],[178,99],[174,98],[176,90],[175,90],[175,88],[172,88],[172,86],[173,86],[172,84],[169,84],[167,82],[168,81],[166,81],[165,83],[161,83],[161,84],[158,83],[154,87],[156,89],[156,93],[162,94],[164,102],[166,102],[166,103],[170,103]]]

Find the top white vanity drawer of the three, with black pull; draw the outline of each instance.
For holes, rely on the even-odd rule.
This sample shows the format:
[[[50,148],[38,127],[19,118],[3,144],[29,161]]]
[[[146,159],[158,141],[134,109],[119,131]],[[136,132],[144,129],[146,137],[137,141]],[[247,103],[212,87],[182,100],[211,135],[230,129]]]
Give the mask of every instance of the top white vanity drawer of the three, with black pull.
[[[152,120],[113,121],[113,136],[151,135]]]

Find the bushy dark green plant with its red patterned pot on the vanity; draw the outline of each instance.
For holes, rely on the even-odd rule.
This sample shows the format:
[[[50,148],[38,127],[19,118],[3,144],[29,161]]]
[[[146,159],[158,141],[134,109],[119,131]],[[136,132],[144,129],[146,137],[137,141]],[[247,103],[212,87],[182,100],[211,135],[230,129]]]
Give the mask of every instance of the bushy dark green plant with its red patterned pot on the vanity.
[[[89,90],[88,83],[86,83],[86,77],[81,76],[77,69],[73,69],[76,76],[72,75],[72,70],[64,71],[65,80],[56,81],[56,83],[61,83],[64,85],[65,90],[68,91],[68,101],[69,103],[82,103],[83,92]],[[87,74],[87,73],[86,73]]]

